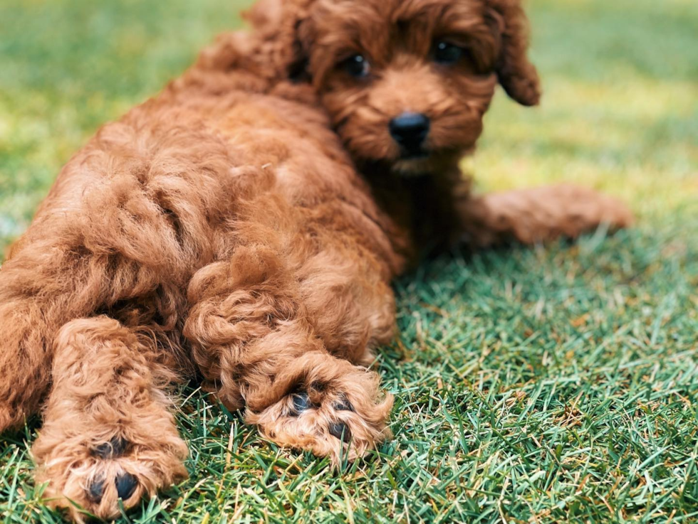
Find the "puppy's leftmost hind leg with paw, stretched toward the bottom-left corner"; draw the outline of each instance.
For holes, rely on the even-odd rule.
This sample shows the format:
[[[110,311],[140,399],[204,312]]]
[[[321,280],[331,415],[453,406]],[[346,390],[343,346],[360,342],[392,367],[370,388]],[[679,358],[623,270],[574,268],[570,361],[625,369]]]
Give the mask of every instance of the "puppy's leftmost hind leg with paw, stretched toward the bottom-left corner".
[[[48,503],[74,520],[119,514],[187,476],[155,343],[99,316],[56,337],[53,387],[32,447]],[[87,513],[85,513],[87,512]]]

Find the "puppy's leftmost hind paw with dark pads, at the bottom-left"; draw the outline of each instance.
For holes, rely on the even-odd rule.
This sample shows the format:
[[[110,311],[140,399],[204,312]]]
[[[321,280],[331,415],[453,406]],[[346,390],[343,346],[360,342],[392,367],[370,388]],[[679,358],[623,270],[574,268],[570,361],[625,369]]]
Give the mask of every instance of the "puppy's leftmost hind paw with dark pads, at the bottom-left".
[[[140,439],[135,444],[121,436],[93,439],[90,429],[85,433],[53,447],[40,437],[32,449],[36,482],[47,483],[46,502],[66,510],[75,522],[115,518],[121,508],[132,508],[187,476],[182,464],[187,447],[177,436],[163,442],[154,433],[151,444]]]

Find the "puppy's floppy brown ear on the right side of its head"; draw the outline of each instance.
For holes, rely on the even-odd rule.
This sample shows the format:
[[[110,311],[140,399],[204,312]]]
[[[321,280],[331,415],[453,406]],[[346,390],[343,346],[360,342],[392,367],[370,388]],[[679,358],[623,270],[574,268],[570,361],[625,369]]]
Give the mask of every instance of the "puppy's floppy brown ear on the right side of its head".
[[[490,16],[498,26],[501,50],[496,63],[499,83],[521,105],[538,105],[541,82],[528,61],[528,18],[521,0],[487,0]]]

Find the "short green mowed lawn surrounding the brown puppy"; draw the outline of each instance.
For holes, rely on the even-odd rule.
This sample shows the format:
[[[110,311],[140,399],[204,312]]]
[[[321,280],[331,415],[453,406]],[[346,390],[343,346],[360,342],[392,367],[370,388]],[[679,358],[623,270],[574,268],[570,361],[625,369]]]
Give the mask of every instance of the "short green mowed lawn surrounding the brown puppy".
[[[102,122],[246,4],[2,0],[0,249]],[[343,471],[182,390],[191,477],[124,523],[697,521],[698,4],[528,5],[543,106],[500,94],[465,166],[483,191],[608,191],[637,227],[444,257],[398,282],[400,337],[375,364],[395,439]],[[61,520],[33,483],[38,430],[0,439],[4,523]]]

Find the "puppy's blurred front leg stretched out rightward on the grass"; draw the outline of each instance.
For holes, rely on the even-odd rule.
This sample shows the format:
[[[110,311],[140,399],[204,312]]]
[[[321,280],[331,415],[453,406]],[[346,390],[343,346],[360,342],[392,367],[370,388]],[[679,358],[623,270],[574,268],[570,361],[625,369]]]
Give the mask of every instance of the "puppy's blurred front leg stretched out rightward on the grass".
[[[620,200],[566,184],[466,196],[457,203],[457,214],[457,234],[473,247],[575,238],[600,225],[616,230],[633,222]]]

